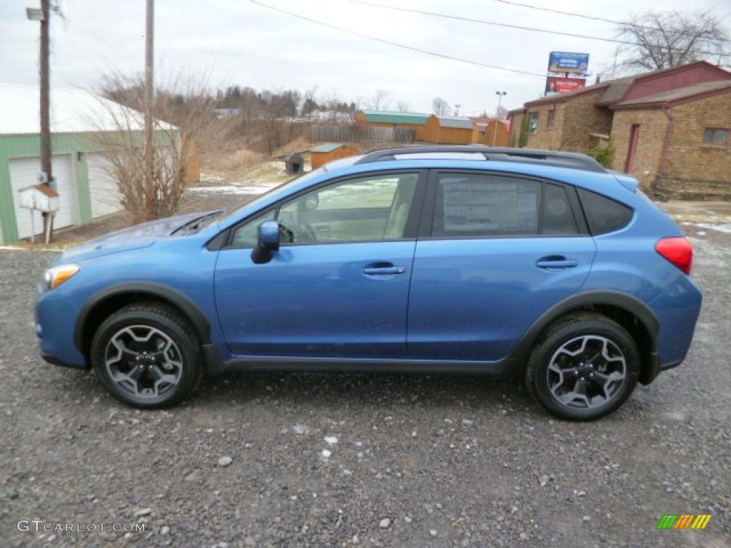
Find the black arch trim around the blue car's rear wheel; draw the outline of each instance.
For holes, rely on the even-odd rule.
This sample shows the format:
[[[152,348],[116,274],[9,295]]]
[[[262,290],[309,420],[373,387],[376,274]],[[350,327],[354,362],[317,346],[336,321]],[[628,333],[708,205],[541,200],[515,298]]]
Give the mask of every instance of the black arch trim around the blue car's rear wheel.
[[[520,343],[510,355],[511,357],[518,358],[520,360],[526,359],[535,345],[536,341],[540,337],[541,333],[556,321],[556,319],[564,316],[566,313],[577,309],[591,310],[596,306],[612,306],[615,308],[621,308],[622,310],[631,313],[635,316],[642,324],[650,335],[650,351],[655,353],[656,350],[656,339],[657,333],[660,328],[660,322],[657,317],[644,302],[633,297],[632,295],[616,292],[616,291],[589,291],[562,300],[556,303],[548,311],[542,313],[542,315],[534,321],[530,329],[520,339]]]

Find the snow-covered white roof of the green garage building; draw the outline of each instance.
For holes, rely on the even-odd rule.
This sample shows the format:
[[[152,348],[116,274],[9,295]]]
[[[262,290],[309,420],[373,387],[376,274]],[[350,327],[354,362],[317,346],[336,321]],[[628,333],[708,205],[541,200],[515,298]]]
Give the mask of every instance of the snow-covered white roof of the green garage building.
[[[40,133],[40,91],[37,85],[0,83],[0,134]],[[170,125],[160,123],[162,128]],[[75,88],[50,91],[52,133],[143,130],[143,115],[121,104]]]

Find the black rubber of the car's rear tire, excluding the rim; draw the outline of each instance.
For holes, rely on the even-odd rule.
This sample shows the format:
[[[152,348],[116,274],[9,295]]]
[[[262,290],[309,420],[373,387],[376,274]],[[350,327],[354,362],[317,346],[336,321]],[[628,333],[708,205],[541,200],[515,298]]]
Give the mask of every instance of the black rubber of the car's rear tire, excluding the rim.
[[[626,363],[625,379],[618,391],[607,402],[591,408],[573,408],[556,401],[548,386],[548,365],[553,354],[577,337],[597,335],[611,340],[624,354]],[[546,410],[564,419],[592,420],[606,416],[621,406],[637,384],[640,372],[640,353],[632,337],[614,321],[592,318],[586,321],[567,323],[548,333],[546,338],[534,349],[529,362],[531,376],[529,389],[531,394]]]

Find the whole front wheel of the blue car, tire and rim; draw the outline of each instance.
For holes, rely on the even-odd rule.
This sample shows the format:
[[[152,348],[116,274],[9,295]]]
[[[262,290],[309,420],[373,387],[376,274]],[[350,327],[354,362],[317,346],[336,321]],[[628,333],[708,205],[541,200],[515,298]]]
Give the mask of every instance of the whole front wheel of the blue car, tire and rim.
[[[139,409],[175,405],[203,376],[200,339],[175,309],[154,302],[107,318],[91,342],[91,365],[115,398]]]

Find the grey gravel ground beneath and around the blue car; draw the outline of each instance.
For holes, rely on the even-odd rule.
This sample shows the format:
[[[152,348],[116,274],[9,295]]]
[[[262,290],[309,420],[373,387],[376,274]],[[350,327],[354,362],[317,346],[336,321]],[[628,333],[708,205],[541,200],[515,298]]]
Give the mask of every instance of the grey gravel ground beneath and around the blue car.
[[[483,378],[238,374],[135,411],[39,359],[54,253],[0,249],[0,547],[727,547],[731,235],[693,241],[686,363],[591,424]]]

